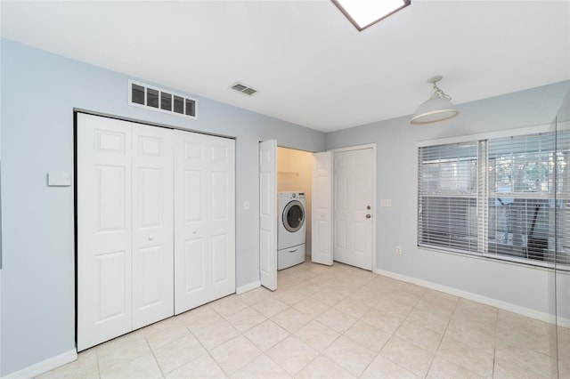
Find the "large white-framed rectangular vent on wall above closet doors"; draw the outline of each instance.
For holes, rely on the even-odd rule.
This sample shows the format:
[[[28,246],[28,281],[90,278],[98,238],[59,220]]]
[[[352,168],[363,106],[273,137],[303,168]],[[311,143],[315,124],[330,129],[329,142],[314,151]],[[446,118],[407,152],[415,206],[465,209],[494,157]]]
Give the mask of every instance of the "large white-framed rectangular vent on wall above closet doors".
[[[162,113],[196,118],[196,101],[153,85],[128,81],[128,105]]]

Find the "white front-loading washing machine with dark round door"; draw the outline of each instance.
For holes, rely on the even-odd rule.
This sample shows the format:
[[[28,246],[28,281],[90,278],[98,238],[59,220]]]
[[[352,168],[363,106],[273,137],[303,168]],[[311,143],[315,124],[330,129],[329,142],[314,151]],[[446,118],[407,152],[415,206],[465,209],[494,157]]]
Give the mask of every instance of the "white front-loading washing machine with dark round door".
[[[305,193],[279,192],[277,270],[305,262]]]

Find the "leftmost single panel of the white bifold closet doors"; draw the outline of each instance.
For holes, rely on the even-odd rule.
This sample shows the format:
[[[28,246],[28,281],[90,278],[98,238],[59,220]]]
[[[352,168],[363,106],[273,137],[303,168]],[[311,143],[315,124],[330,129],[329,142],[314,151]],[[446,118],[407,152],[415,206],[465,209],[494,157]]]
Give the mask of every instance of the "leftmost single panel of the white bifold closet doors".
[[[129,332],[131,128],[77,114],[77,350]]]

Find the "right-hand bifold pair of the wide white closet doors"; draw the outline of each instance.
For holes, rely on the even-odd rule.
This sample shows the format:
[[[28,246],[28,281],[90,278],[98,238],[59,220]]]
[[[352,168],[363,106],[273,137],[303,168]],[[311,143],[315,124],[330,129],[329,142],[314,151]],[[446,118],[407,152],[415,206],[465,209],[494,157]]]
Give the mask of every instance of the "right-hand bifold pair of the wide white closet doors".
[[[235,141],[175,131],[175,313],[235,292]]]

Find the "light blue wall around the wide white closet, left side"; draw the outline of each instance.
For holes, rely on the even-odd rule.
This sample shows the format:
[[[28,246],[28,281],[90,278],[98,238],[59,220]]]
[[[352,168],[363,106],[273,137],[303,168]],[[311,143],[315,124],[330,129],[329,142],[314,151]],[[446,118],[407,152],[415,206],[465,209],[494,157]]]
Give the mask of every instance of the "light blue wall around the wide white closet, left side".
[[[75,347],[74,189],[46,186],[46,173],[73,172],[74,108],[235,137],[236,284],[259,279],[258,141],[277,139],[282,146],[322,151],[323,133],[192,94],[198,100],[198,120],[130,107],[129,77],[5,39],[0,42],[0,376]],[[248,211],[243,210],[245,200],[251,204]]]

